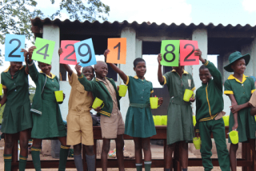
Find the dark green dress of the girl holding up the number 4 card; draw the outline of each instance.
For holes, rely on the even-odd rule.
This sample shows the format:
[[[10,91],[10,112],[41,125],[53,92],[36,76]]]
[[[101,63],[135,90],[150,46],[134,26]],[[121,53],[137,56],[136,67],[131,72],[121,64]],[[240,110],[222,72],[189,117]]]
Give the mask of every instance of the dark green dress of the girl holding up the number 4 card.
[[[34,70],[30,70],[30,72],[34,72]],[[46,77],[45,74],[40,74],[40,76]],[[52,78],[47,76],[46,85],[42,91],[42,114],[32,114],[33,128],[31,137],[33,138],[49,139],[66,136],[66,127],[63,124],[61,111],[54,94],[54,91],[59,90],[58,78],[54,74],[52,76]],[[34,78],[32,79],[34,80]]]

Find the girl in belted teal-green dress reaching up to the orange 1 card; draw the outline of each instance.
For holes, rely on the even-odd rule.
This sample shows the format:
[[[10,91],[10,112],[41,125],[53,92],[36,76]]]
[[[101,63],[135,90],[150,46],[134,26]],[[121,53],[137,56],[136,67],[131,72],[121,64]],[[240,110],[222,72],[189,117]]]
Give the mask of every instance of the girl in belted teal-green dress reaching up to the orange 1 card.
[[[106,50],[104,56],[110,52]],[[134,71],[136,76],[127,76],[113,63],[111,68],[117,72],[123,82],[128,85],[130,107],[126,114],[125,133],[134,138],[135,161],[137,171],[142,171],[142,149],[144,152],[145,170],[149,171],[151,167],[150,137],[156,134],[152,113],[150,110],[150,97],[152,97],[152,82],[144,78],[146,74],[146,62],[142,58],[134,60]],[[162,104],[162,98],[159,98],[159,105]]]

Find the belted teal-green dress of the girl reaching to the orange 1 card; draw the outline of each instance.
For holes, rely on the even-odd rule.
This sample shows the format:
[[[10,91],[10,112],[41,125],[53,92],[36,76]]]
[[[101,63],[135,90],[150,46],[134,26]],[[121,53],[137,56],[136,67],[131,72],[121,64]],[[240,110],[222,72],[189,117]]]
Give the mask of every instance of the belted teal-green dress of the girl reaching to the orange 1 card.
[[[126,85],[130,107],[126,113],[125,133],[131,137],[152,137],[156,134],[150,109],[150,93],[154,92],[152,82],[127,76]]]

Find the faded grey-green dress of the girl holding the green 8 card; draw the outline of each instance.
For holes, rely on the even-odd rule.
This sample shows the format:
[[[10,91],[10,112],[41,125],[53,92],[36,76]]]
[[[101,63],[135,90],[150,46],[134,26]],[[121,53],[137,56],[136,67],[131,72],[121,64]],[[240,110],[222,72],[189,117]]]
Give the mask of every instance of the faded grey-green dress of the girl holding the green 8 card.
[[[191,103],[183,101],[185,89],[195,89],[192,75],[184,70],[181,78],[175,70],[172,70],[163,78],[170,93],[167,111],[167,145],[178,141],[192,141],[194,125]]]

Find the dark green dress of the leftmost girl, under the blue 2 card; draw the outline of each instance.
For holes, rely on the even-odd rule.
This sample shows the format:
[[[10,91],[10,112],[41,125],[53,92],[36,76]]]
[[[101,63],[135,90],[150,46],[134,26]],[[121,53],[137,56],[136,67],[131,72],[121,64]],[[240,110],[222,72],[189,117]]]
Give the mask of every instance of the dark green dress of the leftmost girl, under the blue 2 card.
[[[6,107],[2,115],[2,133],[18,133],[32,128],[30,98],[26,66],[22,66],[14,77],[10,75],[10,67],[2,72],[1,83],[7,89]]]

